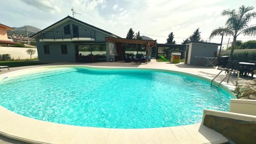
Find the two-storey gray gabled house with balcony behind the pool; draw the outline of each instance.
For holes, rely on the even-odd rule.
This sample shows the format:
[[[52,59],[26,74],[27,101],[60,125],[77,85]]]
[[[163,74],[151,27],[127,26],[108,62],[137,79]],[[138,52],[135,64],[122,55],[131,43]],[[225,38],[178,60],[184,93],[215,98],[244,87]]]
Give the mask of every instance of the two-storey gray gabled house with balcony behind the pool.
[[[39,60],[109,61],[115,44],[106,38],[119,38],[106,30],[66,17],[31,36],[36,39]]]

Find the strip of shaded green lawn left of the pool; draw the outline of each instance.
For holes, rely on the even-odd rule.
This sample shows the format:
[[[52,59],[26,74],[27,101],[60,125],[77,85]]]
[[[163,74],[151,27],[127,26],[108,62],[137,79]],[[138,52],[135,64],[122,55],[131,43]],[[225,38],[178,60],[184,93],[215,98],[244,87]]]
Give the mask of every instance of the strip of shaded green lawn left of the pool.
[[[0,66],[9,66],[9,67],[23,67],[23,66],[34,66],[34,65],[43,65],[43,64],[46,64],[46,63],[29,62],[26,60],[0,61]]]

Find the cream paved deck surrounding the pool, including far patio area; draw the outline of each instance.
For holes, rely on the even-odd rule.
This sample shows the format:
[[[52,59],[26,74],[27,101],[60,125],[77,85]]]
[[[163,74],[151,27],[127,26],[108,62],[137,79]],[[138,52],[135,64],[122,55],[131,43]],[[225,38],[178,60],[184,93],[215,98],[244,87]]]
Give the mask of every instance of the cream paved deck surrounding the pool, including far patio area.
[[[51,63],[28,67],[10,68],[0,71],[0,77],[15,73],[16,70],[54,65],[87,65],[110,67],[139,67],[177,70],[198,76],[213,78],[220,70],[212,67],[190,66],[184,63],[156,62],[146,64],[134,62],[99,62],[99,63]],[[222,77],[225,74],[222,74]],[[221,77],[219,78],[221,79]],[[217,81],[219,81],[217,79]],[[234,87],[235,77],[227,86]],[[225,143],[228,140],[221,134],[201,124],[163,127],[154,129],[105,129],[81,127],[38,121],[13,113],[0,106],[0,134],[33,143]],[[0,143],[2,143],[0,139]],[[4,143],[4,141],[3,141]],[[6,142],[7,143],[7,142]]]

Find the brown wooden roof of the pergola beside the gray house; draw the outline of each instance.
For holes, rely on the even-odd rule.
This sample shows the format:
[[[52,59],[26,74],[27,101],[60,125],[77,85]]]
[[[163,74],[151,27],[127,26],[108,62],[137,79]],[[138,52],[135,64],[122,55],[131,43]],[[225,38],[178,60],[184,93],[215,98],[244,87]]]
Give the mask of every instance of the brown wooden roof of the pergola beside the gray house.
[[[130,43],[130,44],[147,44],[155,45],[156,40],[143,40],[143,39],[128,39],[128,38],[113,38],[113,37],[106,37],[106,41],[112,43]]]

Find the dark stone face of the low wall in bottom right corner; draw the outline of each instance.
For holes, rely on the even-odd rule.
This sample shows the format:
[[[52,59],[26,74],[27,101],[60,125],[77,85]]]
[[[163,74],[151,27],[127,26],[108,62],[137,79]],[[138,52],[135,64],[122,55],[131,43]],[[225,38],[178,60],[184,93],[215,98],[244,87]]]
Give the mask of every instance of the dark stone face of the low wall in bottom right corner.
[[[255,143],[256,123],[206,115],[204,125],[228,137],[235,143]]]

